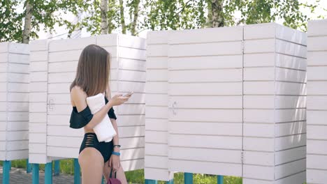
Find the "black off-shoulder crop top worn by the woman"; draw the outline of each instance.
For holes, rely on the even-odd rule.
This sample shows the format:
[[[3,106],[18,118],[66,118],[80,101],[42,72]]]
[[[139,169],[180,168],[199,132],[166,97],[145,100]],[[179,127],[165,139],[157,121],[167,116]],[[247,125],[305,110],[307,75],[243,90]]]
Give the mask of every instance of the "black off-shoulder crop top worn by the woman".
[[[108,99],[106,98],[106,96],[105,96],[105,100],[107,104]],[[109,109],[108,116],[109,118],[117,119],[115,115],[115,110],[112,107]],[[81,112],[78,112],[77,108],[73,106],[73,110],[71,111],[71,119],[69,121],[70,123],[69,127],[75,129],[82,128],[85,125],[87,125],[87,123],[89,123],[89,121],[91,121],[92,118],[93,118],[93,114],[89,109],[88,105]]]

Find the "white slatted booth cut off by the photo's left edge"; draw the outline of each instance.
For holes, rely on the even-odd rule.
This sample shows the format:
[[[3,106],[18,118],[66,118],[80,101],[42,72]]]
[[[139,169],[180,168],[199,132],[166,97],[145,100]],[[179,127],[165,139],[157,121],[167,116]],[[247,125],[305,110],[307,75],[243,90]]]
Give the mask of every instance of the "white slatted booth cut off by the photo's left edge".
[[[28,158],[29,45],[0,43],[0,160]]]

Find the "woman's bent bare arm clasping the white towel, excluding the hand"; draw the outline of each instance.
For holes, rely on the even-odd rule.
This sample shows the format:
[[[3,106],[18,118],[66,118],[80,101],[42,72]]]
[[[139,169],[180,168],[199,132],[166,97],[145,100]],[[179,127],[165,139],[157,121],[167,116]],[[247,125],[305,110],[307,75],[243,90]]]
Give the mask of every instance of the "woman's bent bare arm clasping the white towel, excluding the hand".
[[[87,102],[85,92],[80,89],[80,87],[75,86],[71,90],[71,97],[73,102],[75,103],[76,109],[78,112],[81,112],[83,109],[87,108]],[[108,114],[110,108],[112,107],[111,102],[108,102],[104,107],[102,107],[99,112],[93,114],[93,117],[85,127],[89,129],[93,129],[98,123],[100,123],[103,118]]]

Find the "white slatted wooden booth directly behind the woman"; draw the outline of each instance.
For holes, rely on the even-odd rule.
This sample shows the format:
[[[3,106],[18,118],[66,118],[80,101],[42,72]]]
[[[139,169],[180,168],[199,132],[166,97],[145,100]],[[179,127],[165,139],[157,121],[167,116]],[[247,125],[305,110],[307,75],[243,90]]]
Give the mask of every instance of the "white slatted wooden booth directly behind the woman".
[[[47,163],[78,158],[84,130],[69,128],[69,86],[75,77],[82,49],[96,44],[110,52],[110,91],[135,93],[114,106],[124,171],[142,169],[145,124],[145,39],[122,34],[67,40],[31,42],[31,89],[29,158]]]

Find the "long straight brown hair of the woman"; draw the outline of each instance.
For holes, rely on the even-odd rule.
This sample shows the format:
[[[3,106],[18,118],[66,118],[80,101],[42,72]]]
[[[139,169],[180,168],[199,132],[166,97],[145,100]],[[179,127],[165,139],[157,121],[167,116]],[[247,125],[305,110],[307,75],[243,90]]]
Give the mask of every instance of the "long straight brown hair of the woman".
[[[110,54],[99,45],[87,45],[80,54],[76,76],[69,91],[73,86],[87,93],[87,96],[96,95],[106,91],[110,81]]]

